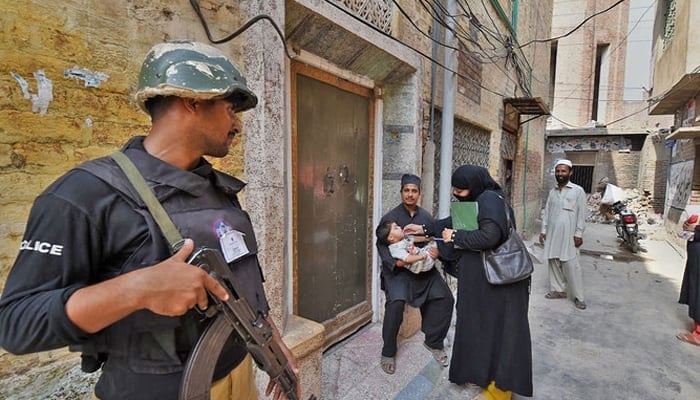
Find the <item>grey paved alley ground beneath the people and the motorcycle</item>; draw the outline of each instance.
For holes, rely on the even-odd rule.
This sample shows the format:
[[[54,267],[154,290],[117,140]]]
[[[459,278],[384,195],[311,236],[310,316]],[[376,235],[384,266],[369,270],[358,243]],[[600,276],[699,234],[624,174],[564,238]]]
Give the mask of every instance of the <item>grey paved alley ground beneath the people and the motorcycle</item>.
[[[537,264],[530,300],[534,399],[700,399],[700,347],[675,334],[689,328],[677,303],[684,250],[660,227],[643,227],[646,253],[621,247],[612,225],[589,224],[582,248],[588,309],[546,300],[547,269]],[[541,251],[533,247],[535,253]],[[400,342],[397,373],[379,367],[381,325],[371,324],[329,349],[325,400],[469,399],[422,346],[422,333]],[[448,335],[452,342],[452,332]]]

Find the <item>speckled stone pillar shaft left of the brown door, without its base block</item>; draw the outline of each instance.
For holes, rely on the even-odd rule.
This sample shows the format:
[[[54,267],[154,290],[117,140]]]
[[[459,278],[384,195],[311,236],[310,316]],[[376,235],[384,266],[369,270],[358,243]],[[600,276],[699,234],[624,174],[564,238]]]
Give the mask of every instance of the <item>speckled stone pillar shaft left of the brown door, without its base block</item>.
[[[278,1],[242,1],[246,21],[259,14],[272,17],[284,29],[284,9]],[[287,147],[285,137],[284,47],[267,20],[258,21],[234,40],[244,40],[244,75],[258,96],[258,106],[244,113],[244,191],[258,239],[271,314],[280,330],[286,310]]]

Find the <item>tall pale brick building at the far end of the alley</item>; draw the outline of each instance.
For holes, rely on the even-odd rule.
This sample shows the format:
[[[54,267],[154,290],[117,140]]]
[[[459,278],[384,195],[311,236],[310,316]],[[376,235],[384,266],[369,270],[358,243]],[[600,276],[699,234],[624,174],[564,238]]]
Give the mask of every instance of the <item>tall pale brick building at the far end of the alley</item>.
[[[554,1],[545,193],[554,162],[568,158],[587,193],[608,178],[661,212],[667,153],[656,144],[669,121],[646,112],[655,10],[653,0]]]

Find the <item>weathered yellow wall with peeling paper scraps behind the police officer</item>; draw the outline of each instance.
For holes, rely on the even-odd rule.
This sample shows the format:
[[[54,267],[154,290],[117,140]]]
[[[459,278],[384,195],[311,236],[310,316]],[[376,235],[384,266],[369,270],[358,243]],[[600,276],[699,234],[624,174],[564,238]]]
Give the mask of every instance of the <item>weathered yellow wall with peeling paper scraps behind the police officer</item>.
[[[207,42],[188,2],[1,3],[0,288],[17,255],[33,199],[73,166],[148,132],[148,117],[132,100],[148,49],[177,38]],[[228,2],[202,3],[216,37],[244,22]],[[240,45],[231,41],[218,47],[245,70]],[[244,141],[245,128],[242,136]],[[238,144],[214,163],[240,175],[242,154]],[[77,371],[78,360],[65,350],[23,357],[0,350],[0,360],[0,398],[47,398],[52,390],[63,393],[58,398],[81,395],[67,389],[65,377],[58,381]],[[25,371],[24,381],[13,380],[17,371]],[[88,388],[94,379],[72,374],[84,377]],[[26,391],[37,382],[43,394]]]

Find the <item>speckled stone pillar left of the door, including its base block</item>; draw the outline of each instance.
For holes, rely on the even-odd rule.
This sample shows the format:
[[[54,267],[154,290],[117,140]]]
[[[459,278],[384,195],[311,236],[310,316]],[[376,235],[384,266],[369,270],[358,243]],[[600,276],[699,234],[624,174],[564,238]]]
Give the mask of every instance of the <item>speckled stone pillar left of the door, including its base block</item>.
[[[270,16],[284,32],[283,1],[241,1],[245,19]],[[289,221],[286,171],[290,147],[286,125],[285,50],[268,20],[258,21],[240,36],[244,40],[244,75],[258,96],[258,106],[244,113],[244,199],[258,239],[258,257],[265,274],[265,291],[271,315],[284,342],[297,358],[304,398],[321,397],[323,325],[292,315],[287,308],[289,279],[287,232]],[[258,374],[258,388],[268,378]]]

